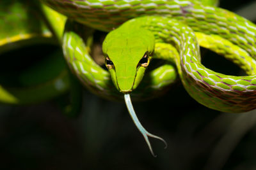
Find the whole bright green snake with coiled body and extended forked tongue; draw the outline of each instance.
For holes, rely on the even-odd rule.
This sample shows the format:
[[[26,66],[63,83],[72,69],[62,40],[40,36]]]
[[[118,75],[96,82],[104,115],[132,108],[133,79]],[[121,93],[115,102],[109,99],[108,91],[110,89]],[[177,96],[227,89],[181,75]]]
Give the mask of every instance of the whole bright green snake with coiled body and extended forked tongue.
[[[132,108],[134,99],[155,97],[180,80],[191,97],[213,110],[239,113],[256,108],[256,26],[214,7],[214,2],[185,0],[42,0],[68,17],[63,53],[81,83],[93,93],[125,102],[147,141]],[[62,30],[51,22],[58,37]],[[128,20],[128,21],[127,21]],[[102,45],[106,69],[90,57],[91,29],[109,32]],[[200,48],[208,48],[240,66],[249,76],[229,76],[207,69]],[[151,60],[165,64],[147,71]],[[175,66],[173,66],[175,64]],[[164,141],[165,143],[165,141]]]

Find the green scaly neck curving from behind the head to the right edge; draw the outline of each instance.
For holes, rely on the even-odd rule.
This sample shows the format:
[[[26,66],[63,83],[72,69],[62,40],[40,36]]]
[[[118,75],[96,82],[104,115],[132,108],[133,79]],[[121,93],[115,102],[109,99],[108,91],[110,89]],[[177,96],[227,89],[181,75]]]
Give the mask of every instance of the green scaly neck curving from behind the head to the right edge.
[[[256,76],[227,76],[205,68],[200,63],[199,46],[190,27],[170,18],[156,16],[132,19],[122,27],[132,25],[144,27],[154,32],[161,41],[177,46],[180,57],[176,63],[180,78],[196,101],[225,112],[256,108]]]

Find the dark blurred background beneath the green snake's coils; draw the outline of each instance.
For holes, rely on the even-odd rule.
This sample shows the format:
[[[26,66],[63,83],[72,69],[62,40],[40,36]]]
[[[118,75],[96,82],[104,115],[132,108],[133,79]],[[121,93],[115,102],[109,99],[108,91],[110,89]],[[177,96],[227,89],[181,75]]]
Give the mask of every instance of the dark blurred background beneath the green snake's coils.
[[[255,22],[256,8],[246,8],[250,3],[255,5],[223,0],[220,6]],[[27,50],[12,55],[26,58]],[[37,53],[35,46],[29,51]],[[215,53],[204,55],[203,64],[214,71],[243,74]],[[141,124],[168,143],[164,150],[161,141],[150,139],[156,158],[124,102],[106,101],[84,89],[81,115],[68,118],[58,104],[65,97],[29,106],[0,105],[0,169],[256,169],[255,111],[210,110],[188,96],[179,82],[163,97],[134,103]]]

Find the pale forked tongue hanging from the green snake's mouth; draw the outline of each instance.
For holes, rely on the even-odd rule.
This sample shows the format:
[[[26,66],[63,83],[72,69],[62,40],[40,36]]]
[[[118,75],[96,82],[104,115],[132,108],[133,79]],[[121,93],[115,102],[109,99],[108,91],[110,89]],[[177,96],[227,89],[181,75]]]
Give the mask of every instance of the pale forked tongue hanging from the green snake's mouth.
[[[154,157],[156,157],[157,155],[154,154],[153,150],[152,150],[152,146],[150,144],[150,141],[148,139],[148,136],[151,137],[151,138],[156,138],[156,139],[159,139],[161,141],[163,141],[165,147],[164,148],[167,148],[167,143],[166,141],[164,141],[163,138],[160,138],[159,136],[156,136],[154,134],[150,134],[150,132],[148,132],[140,123],[140,120],[138,119],[138,117],[136,116],[136,113],[134,111],[134,108],[132,106],[132,102],[131,102],[131,97],[130,97],[130,94],[124,94],[124,99],[125,99],[125,104],[127,106],[127,109],[132,117],[132,120],[134,122],[134,124],[136,125],[136,127],[139,129],[139,131],[141,132],[141,134],[143,135],[145,141],[147,142],[147,145],[148,145],[148,148],[150,150],[150,152],[152,153],[152,155]]]

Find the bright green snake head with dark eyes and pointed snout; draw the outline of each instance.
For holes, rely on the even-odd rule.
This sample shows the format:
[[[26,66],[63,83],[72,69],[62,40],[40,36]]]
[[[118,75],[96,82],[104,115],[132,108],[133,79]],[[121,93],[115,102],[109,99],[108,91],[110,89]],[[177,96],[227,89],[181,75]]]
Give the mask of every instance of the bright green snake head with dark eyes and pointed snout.
[[[145,29],[121,27],[109,32],[102,50],[116,89],[129,93],[144,76],[154,52],[154,35]]]

